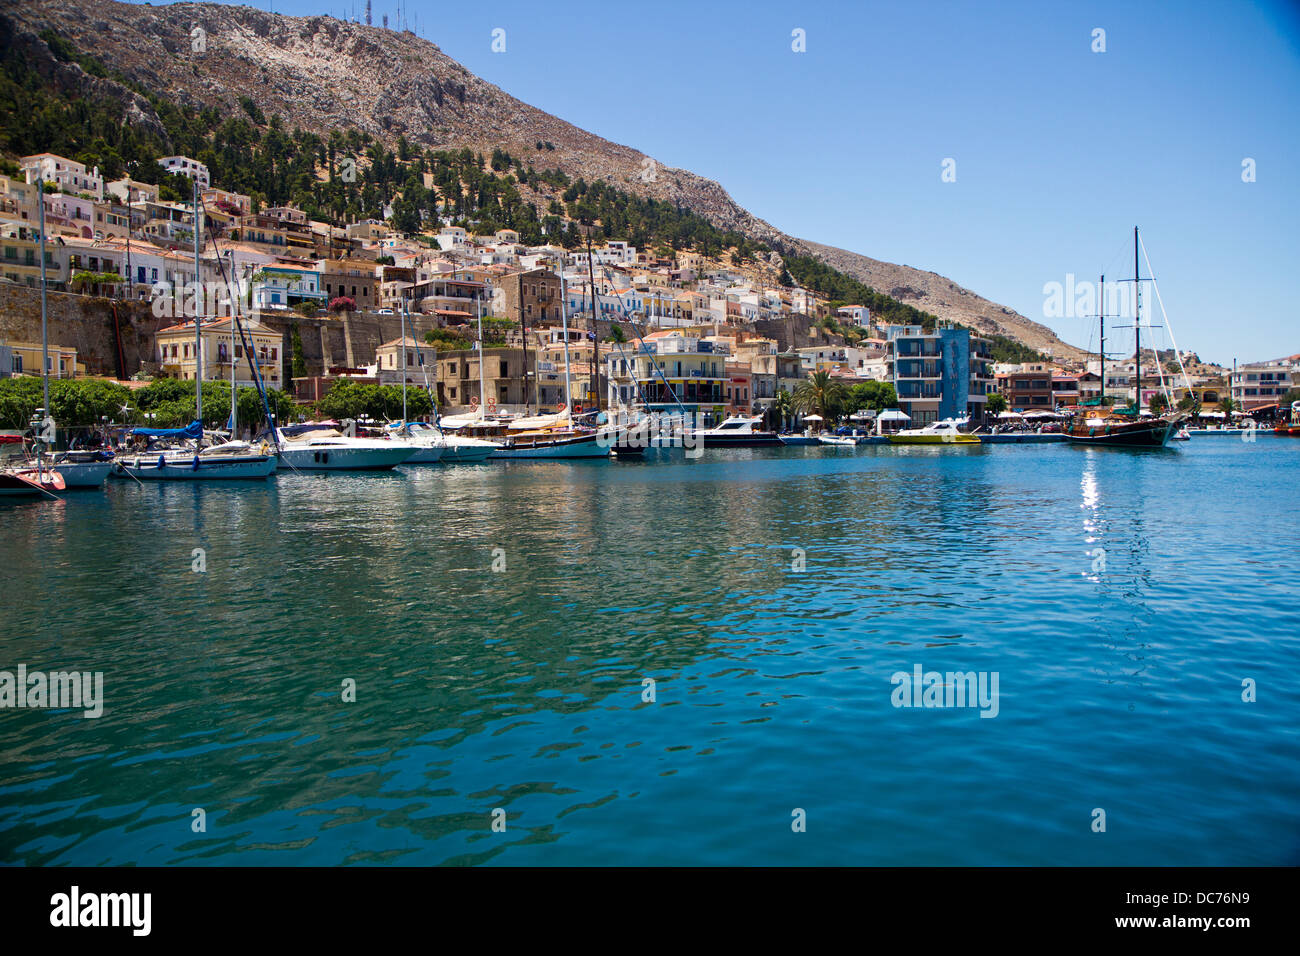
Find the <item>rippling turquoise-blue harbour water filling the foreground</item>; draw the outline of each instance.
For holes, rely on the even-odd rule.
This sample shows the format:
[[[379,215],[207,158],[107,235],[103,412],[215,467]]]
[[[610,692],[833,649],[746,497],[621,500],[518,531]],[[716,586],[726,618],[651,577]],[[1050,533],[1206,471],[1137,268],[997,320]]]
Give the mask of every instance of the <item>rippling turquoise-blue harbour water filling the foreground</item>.
[[[0,505],[0,670],[105,696],[0,710],[0,864],[1296,864],[1297,464],[731,450]],[[996,672],[997,715],[893,706],[916,665]]]

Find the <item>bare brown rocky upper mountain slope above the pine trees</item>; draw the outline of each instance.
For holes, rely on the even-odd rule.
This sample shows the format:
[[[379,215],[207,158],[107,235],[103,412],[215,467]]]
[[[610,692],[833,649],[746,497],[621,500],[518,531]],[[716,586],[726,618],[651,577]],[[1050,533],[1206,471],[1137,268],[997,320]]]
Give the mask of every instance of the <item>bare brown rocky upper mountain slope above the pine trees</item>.
[[[1082,352],[1048,328],[980,298],[932,272],[868,259],[797,239],[738,206],[716,182],[658,164],[629,146],[611,143],[510,96],[428,40],[406,31],[338,21],[286,17],[250,7],[113,0],[29,0],[3,14],[8,42],[44,57],[43,75],[58,85],[95,85],[122,104],[122,121],[157,125],[147,101],[108,78],[58,62],[39,39],[53,29],[94,52],[112,70],[179,103],[239,109],[252,96],[289,127],[328,131],[355,126],[386,142],[404,135],[436,148],[469,147],[516,155],[537,142],[554,144],[545,165],[572,177],[604,179],[623,189],[679,203],[715,225],[780,242],[814,255],[874,289],[941,319],[998,332],[1060,358]]]

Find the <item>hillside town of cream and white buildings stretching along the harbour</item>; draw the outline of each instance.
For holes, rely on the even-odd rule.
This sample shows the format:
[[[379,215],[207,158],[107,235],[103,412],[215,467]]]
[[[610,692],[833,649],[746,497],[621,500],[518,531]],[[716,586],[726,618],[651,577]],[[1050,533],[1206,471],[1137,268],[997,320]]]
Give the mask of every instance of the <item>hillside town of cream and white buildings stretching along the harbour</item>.
[[[198,271],[191,202],[164,200],[159,186],[130,177],[105,183],[98,169],[36,153],[21,159],[22,177],[0,176],[0,281],[29,289],[40,284],[39,177],[48,186],[49,289],[152,300],[173,320],[157,333],[153,356],[166,375],[192,377],[199,362],[190,354],[192,323],[185,306],[198,280],[208,290],[204,377],[229,377],[234,365],[240,381],[251,381],[250,356],[237,354],[242,346],[230,336],[228,317],[237,307],[254,316],[255,354],[272,384],[289,380],[290,324],[328,325],[337,321],[338,310],[378,320],[367,326],[359,352],[348,343],[347,368],[329,354],[325,341],[332,333],[304,329],[322,343],[322,358],[296,380],[295,394],[304,401],[324,394],[338,377],[399,380],[403,350],[407,378],[417,371],[420,384],[428,381],[448,410],[472,402],[549,407],[572,394],[582,403],[599,395],[611,407],[688,410],[716,420],[762,414],[781,392],[794,393],[816,373],[846,386],[892,384],[914,425],[979,420],[994,390],[1019,412],[1070,408],[1102,392],[1121,403],[1134,398],[1138,368],[1131,360],[1108,362],[1105,381],[1096,360],[1000,364],[994,372],[989,341],[965,328],[881,326],[867,306],[832,302],[797,284],[781,286],[771,276],[764,281],[758,269],[698,251],[660,258],[611,238],[589,252],[585,245],[567,250],[555,241],[529,246],[510,228],[476,234],[463,224],[446,224],[432,237],[417,237],[403,235],[384,219],[321,222],[294,206],[259,208],[252,196],[213,183],[208,168],[192,157],[164,156],[159,165],[199,185]],[[387,202],[385,216],[393,206]],[[328,311],[332,304],[335,311]],[[432,324],[454,341],[476,345],[481,317],[495,345],[480,352],[438,349],[410,330],[404,339],[395,338],[398,326],[382,320],[403,312],[419,317],[424,329]],[[806,321],[790,324],[794,316]],[[827,319],[837,326],[811,328]],[[828,332],[836,328],[842,334]],[[779,329],[784,341],[759,329]],[[504,347],[497,347],[502,342]],[[17,346],[4,356],[22,371],[31,367]],[[60,356],[64,369],[75,373],[75,354]],[[0,358],[0,373],[5,371]],[[1300,382],[1300,356],[1242,365],[1230,384],[1209,375],[1175,382],[1148,363],[1141,381],[1144,405],[1164,392],[1202,405],[1231,395],[1251,410],[1277,403]]]

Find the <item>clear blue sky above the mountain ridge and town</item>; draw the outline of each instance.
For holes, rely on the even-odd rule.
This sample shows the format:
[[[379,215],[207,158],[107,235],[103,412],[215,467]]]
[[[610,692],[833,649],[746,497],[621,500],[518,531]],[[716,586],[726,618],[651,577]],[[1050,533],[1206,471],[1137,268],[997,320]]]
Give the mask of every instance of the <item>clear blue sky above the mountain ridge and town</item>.
[[[351,17],[354,4],[273,9]],[[786,233],[932,269],[1066,341],[1095,343],[1093,323],[1046,319],[1044,284],[1131,274],[1139,225],[1180,347],[1223,363],[1300,352],[1295,3],[406,10],[514,96],[718,179]],[[396,0],[374,0],[376,25],[385,13],[395,26]],[[797,27],[805,53],[790,48]],[[1256,182],[1242,181],[1245,157]]]

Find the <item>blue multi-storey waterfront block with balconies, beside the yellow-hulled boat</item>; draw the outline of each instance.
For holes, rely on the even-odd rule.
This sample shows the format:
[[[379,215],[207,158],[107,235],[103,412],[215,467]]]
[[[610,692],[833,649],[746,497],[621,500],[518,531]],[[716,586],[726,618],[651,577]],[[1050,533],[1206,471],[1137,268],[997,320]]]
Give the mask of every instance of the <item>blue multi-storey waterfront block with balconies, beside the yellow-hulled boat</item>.
[[[970,329],[920,325],[887,329],[885,368],[898,407],[914,425],[954,418],[979,420],[993,390],[993,355],[988,339]]]

